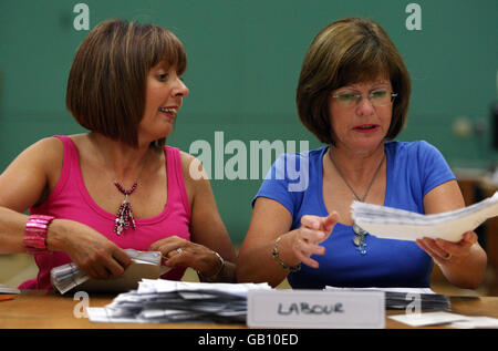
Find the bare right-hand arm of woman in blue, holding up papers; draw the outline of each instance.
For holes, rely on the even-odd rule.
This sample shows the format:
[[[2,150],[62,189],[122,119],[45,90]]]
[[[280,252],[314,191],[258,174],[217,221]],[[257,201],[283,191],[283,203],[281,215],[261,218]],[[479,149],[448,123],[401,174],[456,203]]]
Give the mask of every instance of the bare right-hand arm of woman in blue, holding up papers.
[[[464,197],[456,180],[444,183],[424,197],[426,214],[438,214],[465,207]],[[439,265],[449,282],[475,289],[483,282],[487,256],[477,242],[474,231],[466,233],[459,242],[424,238],[417,244]],[[449,254],[449,255],[448,255]],[[448,258],[449,259],[445,259]]]

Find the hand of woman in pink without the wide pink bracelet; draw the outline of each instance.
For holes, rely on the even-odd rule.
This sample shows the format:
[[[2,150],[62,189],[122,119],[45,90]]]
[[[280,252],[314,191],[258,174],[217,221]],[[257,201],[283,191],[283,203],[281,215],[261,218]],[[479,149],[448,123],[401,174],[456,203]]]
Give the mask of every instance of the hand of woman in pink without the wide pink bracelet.
[[[152,244],[149,250],[160,251],[167,267],[186,266],[207,277],[215,275],[219,270],[219,258],[211,249],[177,236]]]

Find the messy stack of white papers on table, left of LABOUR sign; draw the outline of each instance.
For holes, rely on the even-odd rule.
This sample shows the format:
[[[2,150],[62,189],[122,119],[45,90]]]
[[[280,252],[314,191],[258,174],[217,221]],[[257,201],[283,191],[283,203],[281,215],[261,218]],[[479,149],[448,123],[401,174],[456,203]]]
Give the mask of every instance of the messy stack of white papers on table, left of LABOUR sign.
[[[87,308],[92,322],[245,323],[249,290],[267,283],[207,283],[144,279],[138,289],[118,295],[104,308]]]

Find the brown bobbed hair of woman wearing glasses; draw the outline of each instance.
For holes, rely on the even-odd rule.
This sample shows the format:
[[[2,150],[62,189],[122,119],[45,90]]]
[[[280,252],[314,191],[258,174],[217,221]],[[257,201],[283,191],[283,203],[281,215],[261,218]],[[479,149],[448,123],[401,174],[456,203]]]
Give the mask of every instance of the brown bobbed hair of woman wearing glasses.
[[[397,97],[386,138],[402,131],[408,113],[411,80],[403,60],[377,23],[346,18],[321,30],[308,49],[297,90],[298,114],[322,143],[334,145],[329,101],[339,87],[386,75]]]

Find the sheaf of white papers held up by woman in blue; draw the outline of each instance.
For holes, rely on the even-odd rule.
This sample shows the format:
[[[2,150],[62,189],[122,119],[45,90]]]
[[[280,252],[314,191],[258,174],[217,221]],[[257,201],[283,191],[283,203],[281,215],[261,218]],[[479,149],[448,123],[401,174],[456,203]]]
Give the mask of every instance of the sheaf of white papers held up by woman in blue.
[[[457,242],[464,233],[498,216],[498,192],[480,203],[436,215],[421,215],[361,202],[353,202],[351,209],[354,223],[378,238],[415,241],[428,237]]]

